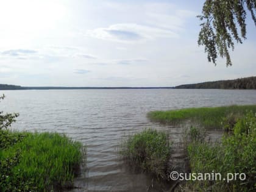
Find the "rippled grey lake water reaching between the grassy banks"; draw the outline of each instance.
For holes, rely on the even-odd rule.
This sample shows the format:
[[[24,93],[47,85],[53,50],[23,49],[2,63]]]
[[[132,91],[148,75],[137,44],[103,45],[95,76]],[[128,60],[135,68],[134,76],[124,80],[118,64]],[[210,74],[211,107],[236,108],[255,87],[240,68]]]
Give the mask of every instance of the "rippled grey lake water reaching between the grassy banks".
[[[146,113],[188,107],[256,104],[256,90],[18,90],[1,91],[4,112],[18,112],[13,129],[66,133],[87,146],[87,168],[73,191],[146,191],[151,177],[130,171],[117,154],[121,139],[145,127],[167,130],[179,143],[182,129],[151,123]],[[151,189],[154,191],[157,189]]]

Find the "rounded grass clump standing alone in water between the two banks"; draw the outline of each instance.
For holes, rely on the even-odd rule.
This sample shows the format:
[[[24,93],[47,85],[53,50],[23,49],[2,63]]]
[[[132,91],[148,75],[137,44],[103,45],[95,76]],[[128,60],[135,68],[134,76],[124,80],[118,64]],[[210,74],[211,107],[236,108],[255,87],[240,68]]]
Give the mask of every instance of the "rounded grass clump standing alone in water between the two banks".
[[[135,133],[124,141],[121,148],[121,155],[129,163],[154,174],[157,179],[165,179],[170,153],[168,134],[153,129]]]

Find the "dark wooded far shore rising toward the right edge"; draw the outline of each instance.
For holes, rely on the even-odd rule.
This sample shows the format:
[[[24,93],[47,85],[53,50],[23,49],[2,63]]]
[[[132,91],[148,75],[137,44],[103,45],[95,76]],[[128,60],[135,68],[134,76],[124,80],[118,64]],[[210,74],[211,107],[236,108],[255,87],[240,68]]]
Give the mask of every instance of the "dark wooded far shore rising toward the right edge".
[[[256,89],[256,77],[179,85],[174,88]]]

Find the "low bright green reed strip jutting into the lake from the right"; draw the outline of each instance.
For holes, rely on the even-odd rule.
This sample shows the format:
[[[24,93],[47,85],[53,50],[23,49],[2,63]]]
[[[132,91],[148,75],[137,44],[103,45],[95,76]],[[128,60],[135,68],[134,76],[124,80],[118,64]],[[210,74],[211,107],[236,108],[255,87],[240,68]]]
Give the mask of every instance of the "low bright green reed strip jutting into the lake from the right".
[[[191,120],[205,128],[221,128],[225,121],[235,121],[246,112],[256,112],[256,105],[231,105],[225,107],[184,108],[180,110],[149,112],[151,121],[176,124]],[[230,122],[231,123],[231,122]]]

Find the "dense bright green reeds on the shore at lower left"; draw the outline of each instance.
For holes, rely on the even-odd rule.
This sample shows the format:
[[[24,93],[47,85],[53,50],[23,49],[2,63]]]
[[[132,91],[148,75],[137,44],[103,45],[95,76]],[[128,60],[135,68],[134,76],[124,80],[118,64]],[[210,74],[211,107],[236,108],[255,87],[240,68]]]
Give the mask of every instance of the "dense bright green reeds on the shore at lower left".
[[[82,145],[59,133],[0,130],[0,191],[62,191],[73,186]]]

